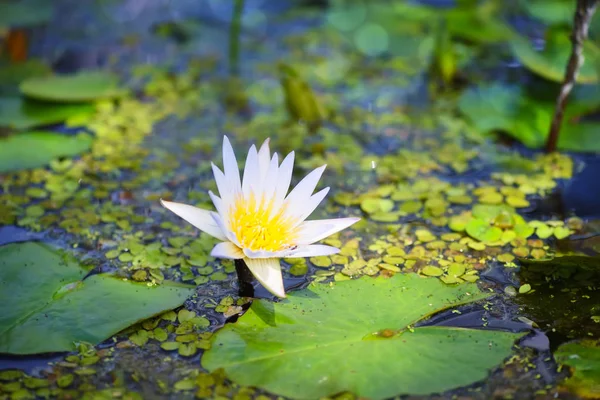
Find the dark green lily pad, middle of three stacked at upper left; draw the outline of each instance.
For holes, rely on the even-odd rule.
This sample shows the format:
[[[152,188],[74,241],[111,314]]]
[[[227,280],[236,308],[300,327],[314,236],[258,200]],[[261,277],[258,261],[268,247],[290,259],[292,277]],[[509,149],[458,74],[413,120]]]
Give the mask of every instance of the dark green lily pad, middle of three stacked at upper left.
[[[6,97],[0,98],[0,127],[16,130],[31,129],[92,112],[94,106],[91,104],[56,104]]]

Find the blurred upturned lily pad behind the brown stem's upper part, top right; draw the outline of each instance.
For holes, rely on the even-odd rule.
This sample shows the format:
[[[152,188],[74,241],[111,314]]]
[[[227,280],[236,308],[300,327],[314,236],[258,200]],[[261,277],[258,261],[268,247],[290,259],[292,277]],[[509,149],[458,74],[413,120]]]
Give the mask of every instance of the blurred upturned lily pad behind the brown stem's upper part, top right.
[[[536,51],[528,39],[514,36],[510,41],[511,49],[519,61],[542,78],[562,82],[571,54],[570,32],[550,30],[543,51]],[[599,80],[600,49],[592,42],[583,44],[585,62],[577,74],[578,83],[596,83]]]

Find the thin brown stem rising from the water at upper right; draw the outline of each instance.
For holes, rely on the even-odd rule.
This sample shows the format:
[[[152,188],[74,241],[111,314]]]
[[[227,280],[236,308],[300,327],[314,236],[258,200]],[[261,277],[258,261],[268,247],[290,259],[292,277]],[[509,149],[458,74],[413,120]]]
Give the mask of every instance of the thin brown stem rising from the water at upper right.
[[[579,68],[581,67],[581,64],[583,64],[584,60],[583,42],[587,38],[590,21],[594,15],[594,12],[596,11],[598,1],[599,0],[577,1],[577,8],[575,10],[575,16],[573,19],[573,31],[571,34],[571,42],[573,43],[571,47],[571,57],[569,58],[569,63],[567,64],[565,79],[563,80],[560,93],[558,94],[558,99],[556,100],[554,118],[552,119],[552,124],[550,125],[550,133],[548,135],[548,141],[546,142],[546,151],[548,153],[556,151],[558,135],[560,133],[560,127],[562,125],[567,100],[571,90],[573,89],[573,85],[575,85]]]

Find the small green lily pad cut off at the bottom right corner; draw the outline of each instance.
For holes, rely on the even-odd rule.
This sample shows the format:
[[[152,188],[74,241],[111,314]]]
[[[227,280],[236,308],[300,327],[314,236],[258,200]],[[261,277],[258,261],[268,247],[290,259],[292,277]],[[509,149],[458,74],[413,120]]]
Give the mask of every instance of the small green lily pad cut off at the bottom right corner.
[[[554,353],[556,361],[571,368],[573,375],[561,386],[582,398],[600,398],[600,342],[565,343]]]

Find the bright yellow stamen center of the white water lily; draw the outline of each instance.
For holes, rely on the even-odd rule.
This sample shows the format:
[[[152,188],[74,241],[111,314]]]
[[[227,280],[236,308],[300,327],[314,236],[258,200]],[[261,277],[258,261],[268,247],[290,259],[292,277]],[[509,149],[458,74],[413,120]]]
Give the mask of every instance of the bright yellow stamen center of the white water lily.
[[[292,245],[296,237],[293,221],[283,207],[273,210],[273,202],[240,196],[229,211],[230,229],[243,248],[252,251],[279,251]]]

